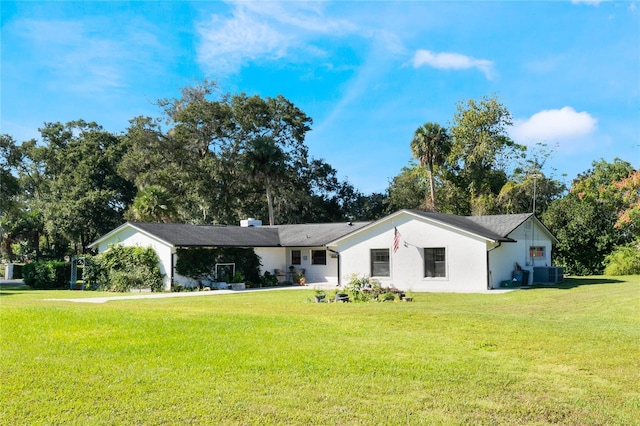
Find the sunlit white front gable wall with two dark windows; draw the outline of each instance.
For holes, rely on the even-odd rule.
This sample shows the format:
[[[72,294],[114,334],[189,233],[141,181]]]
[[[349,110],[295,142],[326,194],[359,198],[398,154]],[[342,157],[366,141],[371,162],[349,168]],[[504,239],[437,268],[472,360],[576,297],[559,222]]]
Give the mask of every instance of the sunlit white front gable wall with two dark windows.
[[[400,247],[393,252],[394,226]],[[406,244],[405,244],[406,243]],[[424,277],[424,248],[446,249],[446,277]],[[401,290],[477,292],[487,289],[486,240],[409,215],[392,217],[339,242],[342,283],[351,274],[370,276],[371,249],[389,249],[390,277],[383,286]]]

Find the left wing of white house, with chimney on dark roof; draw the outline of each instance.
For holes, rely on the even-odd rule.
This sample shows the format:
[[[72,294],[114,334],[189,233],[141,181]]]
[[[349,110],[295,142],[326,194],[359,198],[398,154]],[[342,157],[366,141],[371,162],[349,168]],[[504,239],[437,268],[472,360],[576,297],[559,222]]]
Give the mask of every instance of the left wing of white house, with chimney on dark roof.
[[[282,271],[281,280],[291,280],[293,266],[304,270],[307,282],[338,282],[338,258],[327,243],[365,226],[368,222],[262,226],[255,219],[240,226],[187,225],[177,223],[127,222],[100,237],[89,247],[102,253],[112,244],[152,247],[165,274],[165,289],[172,284],[195,285],[195,281],[175,272],[181,248],[253,248],[260,256],[264,272]]]

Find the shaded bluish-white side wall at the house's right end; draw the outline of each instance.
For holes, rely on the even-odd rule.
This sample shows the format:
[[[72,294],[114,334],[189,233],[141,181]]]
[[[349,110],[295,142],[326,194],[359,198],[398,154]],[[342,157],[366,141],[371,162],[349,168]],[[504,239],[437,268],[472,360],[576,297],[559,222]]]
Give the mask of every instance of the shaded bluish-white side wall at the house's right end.
[[[502,243],[500,247],[489,253],[492,288],[499,288],[501,281],[512,279],[516,263],[522,269],[529,271],[529,282],[524,284],[532,284],[534,266],[551,266],[553,243],[547,232],[536,221],[527,220],[509,234],[509,238],[516,242]],[[544,257],[530,257],[529,248],[533,246],[544,247]]]

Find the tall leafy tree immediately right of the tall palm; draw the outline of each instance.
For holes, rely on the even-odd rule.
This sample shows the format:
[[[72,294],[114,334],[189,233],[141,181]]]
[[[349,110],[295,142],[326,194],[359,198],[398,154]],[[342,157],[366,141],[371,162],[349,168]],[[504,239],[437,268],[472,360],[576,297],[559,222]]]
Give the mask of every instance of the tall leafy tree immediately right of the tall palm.
[[[473,213],[484,213],[507,182],[508,164],[525,148],[509,139],[511,114],[498,98],[459,102],[457,109],[450,128],[451,173],[470,193]]]

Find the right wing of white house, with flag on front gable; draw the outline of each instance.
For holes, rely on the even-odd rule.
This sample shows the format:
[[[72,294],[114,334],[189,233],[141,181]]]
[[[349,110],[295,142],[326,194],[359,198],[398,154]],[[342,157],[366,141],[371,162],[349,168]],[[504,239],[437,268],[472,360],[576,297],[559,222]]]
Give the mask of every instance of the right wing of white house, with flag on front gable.
[[[531,272],[551,266],[554,243],[533,213],[457,216],[400,210],[328,247],[340,254],[342,271],[375,277],[383,286],[481,292],[500,288],[514,276],[531,284]]]

